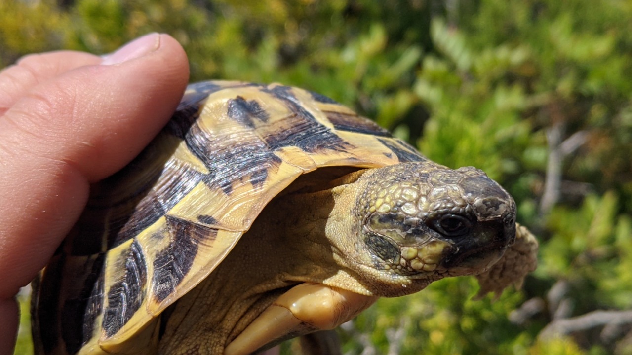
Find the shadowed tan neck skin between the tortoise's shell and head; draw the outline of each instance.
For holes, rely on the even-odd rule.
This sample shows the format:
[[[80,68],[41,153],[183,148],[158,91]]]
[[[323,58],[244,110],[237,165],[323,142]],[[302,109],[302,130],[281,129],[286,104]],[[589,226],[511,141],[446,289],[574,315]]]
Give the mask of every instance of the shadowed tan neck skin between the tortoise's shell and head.
[[[334,184],[351,183],[361,174],[349,174]],[[222,351],[278,296],[301,282],[327,280],[334,287],[348,285],[350,291],[367,294],[358,282],[348,280],[353,272],[341,271],[344,250],[333,247],[325,235],[329,220],[351,219],[351,206],[336,207],[334,212],[334,202],[344,190],[291,193],[270,202],[226,260],[176,303],[161,339],[161,353]]]

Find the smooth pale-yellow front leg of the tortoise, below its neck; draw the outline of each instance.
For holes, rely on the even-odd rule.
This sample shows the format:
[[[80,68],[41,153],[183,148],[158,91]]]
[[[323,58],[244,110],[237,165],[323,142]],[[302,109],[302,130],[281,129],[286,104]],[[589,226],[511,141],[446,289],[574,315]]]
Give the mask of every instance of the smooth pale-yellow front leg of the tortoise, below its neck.
[[[322,284],[300,284],[270,304],[228,344],[224,354],[251,354],[291,337],[336,328],[376,300]]]

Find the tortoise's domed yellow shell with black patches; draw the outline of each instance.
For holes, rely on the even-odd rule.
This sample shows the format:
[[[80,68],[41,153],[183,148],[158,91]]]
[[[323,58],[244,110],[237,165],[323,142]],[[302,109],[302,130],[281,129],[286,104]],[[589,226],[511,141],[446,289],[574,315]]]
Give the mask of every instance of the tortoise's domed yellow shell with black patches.
[[[416,160],[425,158],[317,93],[190,85],[155,140],[92,188],[35,286],[35,343],[74,353],[130,336],[204,279],[300,174]]]

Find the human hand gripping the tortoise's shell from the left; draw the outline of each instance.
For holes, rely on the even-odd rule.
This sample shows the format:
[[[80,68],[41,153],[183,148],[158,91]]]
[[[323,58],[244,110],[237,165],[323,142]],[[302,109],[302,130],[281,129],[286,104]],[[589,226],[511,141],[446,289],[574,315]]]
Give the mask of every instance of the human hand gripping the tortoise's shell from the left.
[[[11,354],[15,295],[81,214],[90,183],[158,133],[188,81],[182,47],[152,33],[112,55],[59,51],[0,72],[0,354]]]

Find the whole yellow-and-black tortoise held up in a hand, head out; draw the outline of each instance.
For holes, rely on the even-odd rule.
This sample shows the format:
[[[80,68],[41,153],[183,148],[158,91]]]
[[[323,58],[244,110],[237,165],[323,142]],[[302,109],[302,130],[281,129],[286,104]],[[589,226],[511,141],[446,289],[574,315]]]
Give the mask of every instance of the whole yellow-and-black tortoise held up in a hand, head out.
[[[535,268],[515,220],[484,172],[324,95],[195,83],[33,282],[36,353],[250,354],[444,277],[500,292]]]

